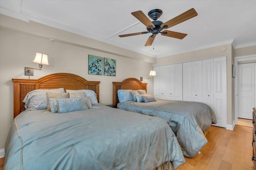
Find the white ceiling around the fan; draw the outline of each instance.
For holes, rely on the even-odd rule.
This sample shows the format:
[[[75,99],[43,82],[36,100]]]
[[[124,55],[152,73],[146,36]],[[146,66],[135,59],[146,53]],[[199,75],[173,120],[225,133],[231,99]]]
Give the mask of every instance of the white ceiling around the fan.
[[[194,8],[198,16],[167,30],[187,33],[180,40],[158,34],[145,47],[150,34],[118,37],[146,31],[131,12],[146,16],[161,9],[158,20],[166,22]],[[0,0],[0,13],[36,21],[152,57],[232,43],[256,45],[256,0]],[[150,19],[151,20],[151,19]]]

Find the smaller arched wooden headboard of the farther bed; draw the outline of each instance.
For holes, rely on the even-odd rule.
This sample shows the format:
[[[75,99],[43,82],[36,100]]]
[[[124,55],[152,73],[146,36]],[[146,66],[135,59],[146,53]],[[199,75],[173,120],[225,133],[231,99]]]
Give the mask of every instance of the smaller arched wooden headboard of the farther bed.
[[[126,78],[122,82],[112,82],[113,84],[113,106],[116,106],[119,103],[117,90],[146,90],[147,91],[147,84],[142,83],[137,78]]]

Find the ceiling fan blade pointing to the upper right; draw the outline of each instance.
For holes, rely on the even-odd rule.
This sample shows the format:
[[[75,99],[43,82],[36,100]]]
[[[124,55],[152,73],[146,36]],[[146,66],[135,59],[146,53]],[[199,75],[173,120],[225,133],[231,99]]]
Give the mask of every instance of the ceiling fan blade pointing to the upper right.
[[[167,27],[164,27],[164,29],[170,28],[195,16],[197,16],[197,12],[194,8],[191,8],[190,10],[180,14],[179,16],[176,16],[175,18],[172,18],[171,20],[162,23],[161,28],[164,27],[164,25],[167,25]]]

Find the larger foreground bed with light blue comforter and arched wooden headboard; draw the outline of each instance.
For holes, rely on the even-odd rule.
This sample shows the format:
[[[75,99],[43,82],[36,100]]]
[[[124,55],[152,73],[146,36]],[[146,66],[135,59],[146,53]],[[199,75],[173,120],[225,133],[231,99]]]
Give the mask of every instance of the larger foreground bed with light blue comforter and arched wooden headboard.
[[[176,169],[185,162],[176,136],[166,121],[98,104],[98,81],[87,81],[69,73],[50,74],[37,80],[12,81],[14,121],[5,146],[6,170],[171,170],[172,166]],[[31,96],[32,99],[37,98],[37,93],[46,89],[55,92],[62,88],[69,89],[70,96],[72,90],[93,91],[97,102],[91,100],[91,96],[52,99],[58,101],[58,112],[64,110],[62,104],[68,109],[78,105],[88,106],[64,113],[52,113],[52,102],[50,111],[45,109],[46,106],[35,109],[28,104],[28,101],[36,101],[29,99]],[[72,95],[78,94],[80,92]],[[78,100],[85,103],[70,105],[67,102]]]

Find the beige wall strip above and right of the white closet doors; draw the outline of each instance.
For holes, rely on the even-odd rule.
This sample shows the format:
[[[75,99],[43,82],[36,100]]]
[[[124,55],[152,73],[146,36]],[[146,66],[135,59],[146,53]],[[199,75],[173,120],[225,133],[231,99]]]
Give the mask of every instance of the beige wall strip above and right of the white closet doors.
[[[226,47],[226,51],[222,51],[221,47]],[[234,122],[234,78],[232,78],[232,64],[234,64],[234,56],[232,55],[232,44],[221,45],[217,47],[211,47],[207,49],[201,49],[197,51],[191,51],[188,53],[182,53],[172,55],[168,57],[162,57],[156,60],[156,64],[165,65],[172,63],[182,63],[185,61],[194,61],[200,59],[207,59],[212,57],[227,57],[227,124],[232,125]]]

